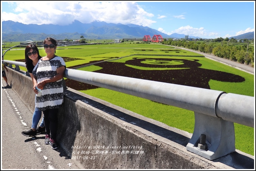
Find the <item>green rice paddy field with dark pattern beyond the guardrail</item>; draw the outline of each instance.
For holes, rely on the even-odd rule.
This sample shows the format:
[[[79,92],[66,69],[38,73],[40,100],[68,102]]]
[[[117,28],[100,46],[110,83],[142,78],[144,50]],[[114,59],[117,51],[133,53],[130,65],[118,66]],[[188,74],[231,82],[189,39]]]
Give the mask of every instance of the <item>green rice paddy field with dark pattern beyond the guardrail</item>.
[[[44,49],[39,49],[40,55],[45,56]],[[254,75],[204,58],[197,53],[161,44],[122,43],[60,46],[57,47],[56,55],[64,58],[67,68],[90,64],[79,69],[141,79],[152,78],[161,82],[170,81],[168,75],[172,75],[175,84],[202,86],[201,88],[210,88],[226,93],[254,96]],[[24,48],[16,48],[5,54],[5,60],[23,61],[24,58]],[[94,63],[110,59],[111,61],[108,62]],[[143,65],[136,65],[136,61]],[[148,67],[149,65],[152,67]],[[24,67],[20,68],[26,71]],[[180,77],[184,79],[179,80]],[[193,81],[189,81],[190,79]],[[193,133],[194,113],[192,111],[105,88],[82,90],[81,87],[78,87],[77,89],[171,127]],[[254,128],[237,123],[234,123],[234,127],[236,149],[254,155]]]

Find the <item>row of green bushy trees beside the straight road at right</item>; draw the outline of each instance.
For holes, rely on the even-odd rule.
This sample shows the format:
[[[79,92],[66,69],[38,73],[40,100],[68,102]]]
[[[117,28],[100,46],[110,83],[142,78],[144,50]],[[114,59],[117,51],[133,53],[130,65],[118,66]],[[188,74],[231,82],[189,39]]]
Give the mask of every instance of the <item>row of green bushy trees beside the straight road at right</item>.
[[[246,40],[245,40],[246,41]],[[202,41],[188,41],[188,40],[166,40],[162,44],[170,46],[178,46],[186,49],[192,49],[204,53],[209,53],[220,58],[226,58],[242,64],[252,65],[254,67],[254,46],[249,46],[249,41],[239,43],[236,45],[237,40],[229,39],[214,39]],[[241,45],[242,44],[242,45]]]

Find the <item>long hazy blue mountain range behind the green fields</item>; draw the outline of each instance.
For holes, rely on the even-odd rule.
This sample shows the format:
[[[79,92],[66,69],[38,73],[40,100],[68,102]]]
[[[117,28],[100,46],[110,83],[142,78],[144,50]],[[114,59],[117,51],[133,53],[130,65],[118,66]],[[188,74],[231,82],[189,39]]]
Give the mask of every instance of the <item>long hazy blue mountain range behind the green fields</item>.
[[[85,39],[143,39],[145,35],[151,38],[153,35],[161,35],[162,38],[185,38],[185,34],[173,33],[164,34],[149,27],[135,24],[114,24],[94,21],[84,24],[75,20],[72,24],[61,26],[54,24],[23,24],[20,22],[2,22],[2,41],[39,41],[46,37],[53,37],[56,40],[78,40],[81,36]],[[254,35],[254,32],[253,32]],[[189,35],[190,38],[200,39]],[[243,38],[245,39],[245,38]],[[247,38],[248,39],[248,38]]]

